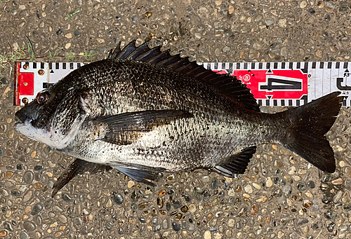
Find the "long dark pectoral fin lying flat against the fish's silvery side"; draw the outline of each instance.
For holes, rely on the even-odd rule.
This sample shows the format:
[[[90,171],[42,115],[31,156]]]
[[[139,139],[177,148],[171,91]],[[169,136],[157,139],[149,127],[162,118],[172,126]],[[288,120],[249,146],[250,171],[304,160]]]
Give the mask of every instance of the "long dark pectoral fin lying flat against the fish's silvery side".
[[[135,111],[114,116],[103,116],[96,119],[97,125],[106,125],[98,140],[112,144],[127,145],[138,140],[143,133],[171,123],[179,118],[192,118],[188,111],[164,109],[150,111]]]

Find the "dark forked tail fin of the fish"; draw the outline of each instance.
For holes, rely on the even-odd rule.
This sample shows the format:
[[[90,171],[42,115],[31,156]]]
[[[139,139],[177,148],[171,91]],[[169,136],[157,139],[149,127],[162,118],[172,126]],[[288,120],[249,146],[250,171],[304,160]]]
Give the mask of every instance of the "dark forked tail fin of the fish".
[[[343,97],[338,95],[340,92],[331,93],[283,112],[291,122],[284,146],[324,172],[336,169],[333,149],[324,135],[340,111]]]

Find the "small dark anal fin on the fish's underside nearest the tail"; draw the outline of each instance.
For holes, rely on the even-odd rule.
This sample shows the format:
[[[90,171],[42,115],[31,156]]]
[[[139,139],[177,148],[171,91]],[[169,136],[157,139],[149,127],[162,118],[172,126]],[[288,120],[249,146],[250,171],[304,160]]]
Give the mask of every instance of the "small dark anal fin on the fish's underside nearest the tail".
[[[249,147],[241,151],[241,153],[231,156],[225,163],[213,168],[213,171],[225,177],[243,174],[250,163],[253,153],[256,153],[256,146]]]

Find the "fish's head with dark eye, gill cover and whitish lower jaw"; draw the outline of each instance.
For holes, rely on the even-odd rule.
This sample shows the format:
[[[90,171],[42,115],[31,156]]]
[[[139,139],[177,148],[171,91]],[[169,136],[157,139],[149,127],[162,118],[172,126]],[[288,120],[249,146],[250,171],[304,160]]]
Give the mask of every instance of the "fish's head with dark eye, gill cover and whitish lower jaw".
[[[56,84],[55,84],[56,85]],[[55,149],[63,149],[77,134],[86,116],[79,94],[51,86],[15,113],[15,130]]]

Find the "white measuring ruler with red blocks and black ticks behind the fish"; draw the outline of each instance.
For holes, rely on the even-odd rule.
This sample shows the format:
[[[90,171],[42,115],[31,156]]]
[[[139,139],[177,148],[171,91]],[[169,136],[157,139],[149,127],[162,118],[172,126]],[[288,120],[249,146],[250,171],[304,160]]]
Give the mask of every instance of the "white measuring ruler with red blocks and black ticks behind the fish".
[[[237,76],[260,106],[296,107],[334,91],[351,106],[351,62],[205,62],[206,69]],[[74,71],[81,62],[15,62],[13,102],[24,105]],[[350,69],[349,69],[350,68]]]

